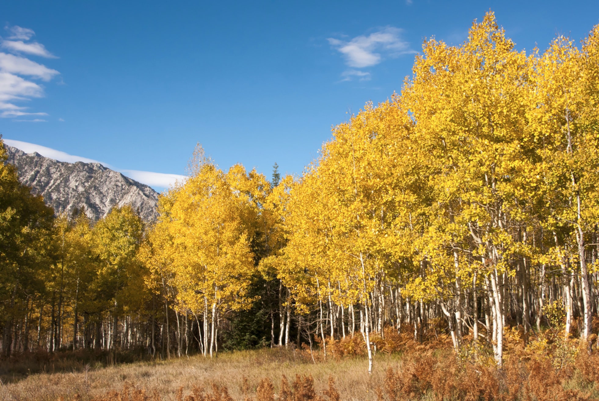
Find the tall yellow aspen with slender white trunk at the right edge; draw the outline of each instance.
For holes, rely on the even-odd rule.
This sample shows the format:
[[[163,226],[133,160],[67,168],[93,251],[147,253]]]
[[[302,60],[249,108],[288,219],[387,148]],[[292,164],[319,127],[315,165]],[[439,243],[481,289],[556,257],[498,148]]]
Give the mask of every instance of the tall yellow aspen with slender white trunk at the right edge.
[[[587,78],[596,75],[597,68],[591,61],[593,54],[597,54],[594,41],[595,35],[591,35],[583,47],[585,51],[578,50],[572,41],[564,37],[552,42],[536,66],[536,107],[531,108],[531,128],[537,141],[543,142],[539,154],[546,166],[545,175],[550,188],[548,198],[552,200],[550,204],[548,202],[552,209],[548,228],[573,236],[576,243],[585,339],[591,330],[592,302],[585,236],[588,235],[586,231],[596,225],[597,201],[594,194],[597,192],[596,171],[599,166],[599,138],[592,129],[597,121],[597,112],[595,107],[588,106],[588,99],[596,93],[597,87],[592,79]],[[570,289],[565,291],[569,293]],[[569,294],[566,297],[570,315]]]

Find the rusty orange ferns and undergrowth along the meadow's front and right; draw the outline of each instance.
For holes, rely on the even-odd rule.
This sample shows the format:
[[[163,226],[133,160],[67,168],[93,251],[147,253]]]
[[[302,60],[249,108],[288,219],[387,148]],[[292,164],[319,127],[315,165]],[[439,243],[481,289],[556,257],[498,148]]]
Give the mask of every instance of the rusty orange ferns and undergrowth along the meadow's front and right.
[[[401,358],[388,367],[371,387],[379,401],[465,400],[465,401],[583,401],[599,399],[599,350],[596,336],[589,342],[566,338],[563,332],[525,334],[521,327],[506,329],[503,366],[492,357],[490,344],[473,344],[465,338],[458,353],[446,335],[432,335],[422,344],[409,333],[389,329],[384,336],[373,336],[377,353],[401,353]],[[595,344],[595,346],[593,346]],[[321,344],[322,345],[322,344]],[[362,336],[326,341],[327,359],[364,356]],[[325,359],[324,347],[319,350],[297,350],[305,362],[319,363]],[[375,357],[375,369],[376,365]],[[383,368],[380,368],[383,369]],[[364,372],[366,375],[367,373]],[[322,377],[322,376],[321,376]],[[257,382],[256,382],[257,383]],[[243,401],[340,401],[335,380],[329,377],[326,390],[315,386],[311,375],[297,375],[293,382],[282,376],[278,392],[270,378],[241,385]],[[321,384],[322,385],[322,384]],[[213,384],[210,391],[201,385],[183,394],[177,401],[233,401],[226,387]],[[157,393],[146,393],[131,385],[113,391],[93,401],[160,401]],[[241,401],[240,400],[240,401]]]

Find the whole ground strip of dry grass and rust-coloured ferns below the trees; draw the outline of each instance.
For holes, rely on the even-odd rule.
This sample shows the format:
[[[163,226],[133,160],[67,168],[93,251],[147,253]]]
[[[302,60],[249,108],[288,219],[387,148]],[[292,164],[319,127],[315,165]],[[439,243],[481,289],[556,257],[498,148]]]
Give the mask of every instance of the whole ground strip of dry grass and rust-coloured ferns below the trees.
[[[497,369],[489,350],[444,336],[375,339],[373,375],[363,344],[330,342],[328,358],[309,350],[256,350],[170,361],[37,373],[0,385],[0,400],[78,401],[567,401],[599,399],[599,350],[562,336],[523,341],[506,334]],[[589,354],[589,351],[591,353]]]

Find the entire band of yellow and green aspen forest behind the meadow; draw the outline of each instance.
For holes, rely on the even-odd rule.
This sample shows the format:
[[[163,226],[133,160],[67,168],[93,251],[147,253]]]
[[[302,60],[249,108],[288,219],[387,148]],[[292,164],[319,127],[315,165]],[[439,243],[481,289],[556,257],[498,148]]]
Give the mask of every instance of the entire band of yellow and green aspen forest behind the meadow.
[[[401,94],[335,127],[301,177],[223,172],[198,147],[151,227],[126,206],[53,220],[4,165],[2,352],[326,355],[357,335],[371,368],[371,336],[422,340],[434,319],[501,364],[505,327],[540,331],[547,308],[588,339],[598,103],[599,27],[526,54],[489,13],[461,45],[426,41]]]

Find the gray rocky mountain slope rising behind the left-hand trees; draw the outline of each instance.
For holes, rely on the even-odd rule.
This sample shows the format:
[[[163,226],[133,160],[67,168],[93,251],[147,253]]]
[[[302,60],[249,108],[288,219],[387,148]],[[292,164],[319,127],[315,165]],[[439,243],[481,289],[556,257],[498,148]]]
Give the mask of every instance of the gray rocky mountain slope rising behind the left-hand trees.
[[[147,185],[125,177],[99,163],[65,163],[27,154],[5,145],[8,163],[16,166],[19,181],[41,195],[56,215],[85,209],[93,221],[104,217],[113,206],[131,205],[144,221],[158,216],[158,193]]]

